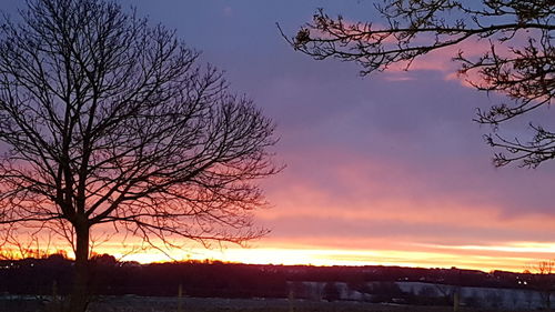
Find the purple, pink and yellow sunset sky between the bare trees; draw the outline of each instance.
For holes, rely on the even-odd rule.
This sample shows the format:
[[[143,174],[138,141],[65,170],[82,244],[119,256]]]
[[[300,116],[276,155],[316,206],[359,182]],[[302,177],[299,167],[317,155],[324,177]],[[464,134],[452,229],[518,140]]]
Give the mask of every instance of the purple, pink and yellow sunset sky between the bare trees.
[[[294,36],[317,8],[372,20],[373,1],[119,2],[176,29],[202,62],[224,70],[231,88],[275,121],[275,160],[286,164],[263,181],[271,204],[256,224],[272,230],[266,238],[248,249],[191,245],[175,259],[523,271],[555,258],[555,161],[535,170],[492,165],[495,151],[483,140],[490,128],[472,119],[503,98],[466,87],[448,61],[455,51],[410,72],[361,78],[353,63],[295,52],[275,24]],[[23,2],[0,6],[13,13]],[[552,113],[525,115],[505,131]],[[98,250],[121,253],[115,242]],[[124,259],[167,260],[154,251]]]

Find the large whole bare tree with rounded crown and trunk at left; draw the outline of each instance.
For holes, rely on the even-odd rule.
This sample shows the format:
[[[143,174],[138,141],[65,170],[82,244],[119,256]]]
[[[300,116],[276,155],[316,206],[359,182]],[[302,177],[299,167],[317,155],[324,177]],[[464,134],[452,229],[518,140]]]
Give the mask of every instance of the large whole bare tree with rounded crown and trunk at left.
[[[155,244],[242,243],[279,171],[273,123],[174,31],[95,0],[29,0],[0,38],[0,224],[74,244],[87,306],[91,230]]]

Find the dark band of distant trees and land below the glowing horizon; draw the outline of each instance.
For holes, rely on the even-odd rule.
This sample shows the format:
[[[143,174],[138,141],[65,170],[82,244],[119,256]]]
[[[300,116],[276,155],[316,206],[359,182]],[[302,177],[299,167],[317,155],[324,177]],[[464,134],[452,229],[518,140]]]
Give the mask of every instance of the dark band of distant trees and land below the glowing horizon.
[[[73,261],[62,255],[46,259],[0,261],[0,293],[44,294],[71,291]],[[219,298],[286,298],[292,288],[295,298],[307,298],[305,282],[324,283],[324,300],[337,300],[335,283],[391,300],[402,292],[396,281],[427,282],[460,286],[536,289],[539,279],[553,274],[532,274],[460,269],[414,269],[398,266],[304,266],[250,265],[219,261],[189,261],[139,264],[118,262],[111,255],[97,255],[91,261],[92,295],[175,296],[181,285],[188,296]],[[371,283],[374,282],[374,283]],[[54,289],[56,288],[56,289]],[[446,300],[448,301],[448,299]]]

